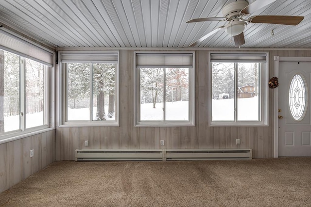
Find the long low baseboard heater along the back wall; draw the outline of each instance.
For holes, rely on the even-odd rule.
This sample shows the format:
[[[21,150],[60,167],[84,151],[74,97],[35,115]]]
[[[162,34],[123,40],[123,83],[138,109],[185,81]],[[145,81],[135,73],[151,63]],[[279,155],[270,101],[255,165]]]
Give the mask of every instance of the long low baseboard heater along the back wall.
[[[77,149],[76,161],[252,159],[252,149]]]

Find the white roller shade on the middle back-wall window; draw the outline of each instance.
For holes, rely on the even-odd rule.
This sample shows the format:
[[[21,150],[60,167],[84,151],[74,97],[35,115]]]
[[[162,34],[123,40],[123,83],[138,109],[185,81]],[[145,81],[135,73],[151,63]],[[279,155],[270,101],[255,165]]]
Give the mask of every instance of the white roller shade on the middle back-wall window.
[[[137,53],[136,65],[142,67],[192,68],[192,53]]]

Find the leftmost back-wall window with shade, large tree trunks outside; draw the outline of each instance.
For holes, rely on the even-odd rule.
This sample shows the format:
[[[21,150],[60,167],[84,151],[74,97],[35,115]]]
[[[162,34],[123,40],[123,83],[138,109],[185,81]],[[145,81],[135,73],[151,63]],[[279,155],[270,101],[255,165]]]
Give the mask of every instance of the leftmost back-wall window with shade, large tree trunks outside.
[[[61,52],[64,125],[119,126],[119,52]]]

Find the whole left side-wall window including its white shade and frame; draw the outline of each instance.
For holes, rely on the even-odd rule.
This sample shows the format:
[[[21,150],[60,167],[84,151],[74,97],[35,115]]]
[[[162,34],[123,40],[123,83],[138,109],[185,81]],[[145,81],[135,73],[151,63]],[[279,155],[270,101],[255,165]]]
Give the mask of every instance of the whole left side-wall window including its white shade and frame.
[[[53,52],[0,30],[0,143],[54,126]]]

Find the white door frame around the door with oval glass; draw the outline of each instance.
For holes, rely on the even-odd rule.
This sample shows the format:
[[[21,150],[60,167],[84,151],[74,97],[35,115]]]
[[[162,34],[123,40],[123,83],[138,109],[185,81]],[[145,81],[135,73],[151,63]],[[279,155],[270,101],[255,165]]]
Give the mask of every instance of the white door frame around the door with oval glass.
[[[279,62],[311,62],[311,57],[274,56],[274,76],[278,77]],[[281,86],[282,87],[282,86]],[[278,158],[278,87],[274,89],[274,158]]]

